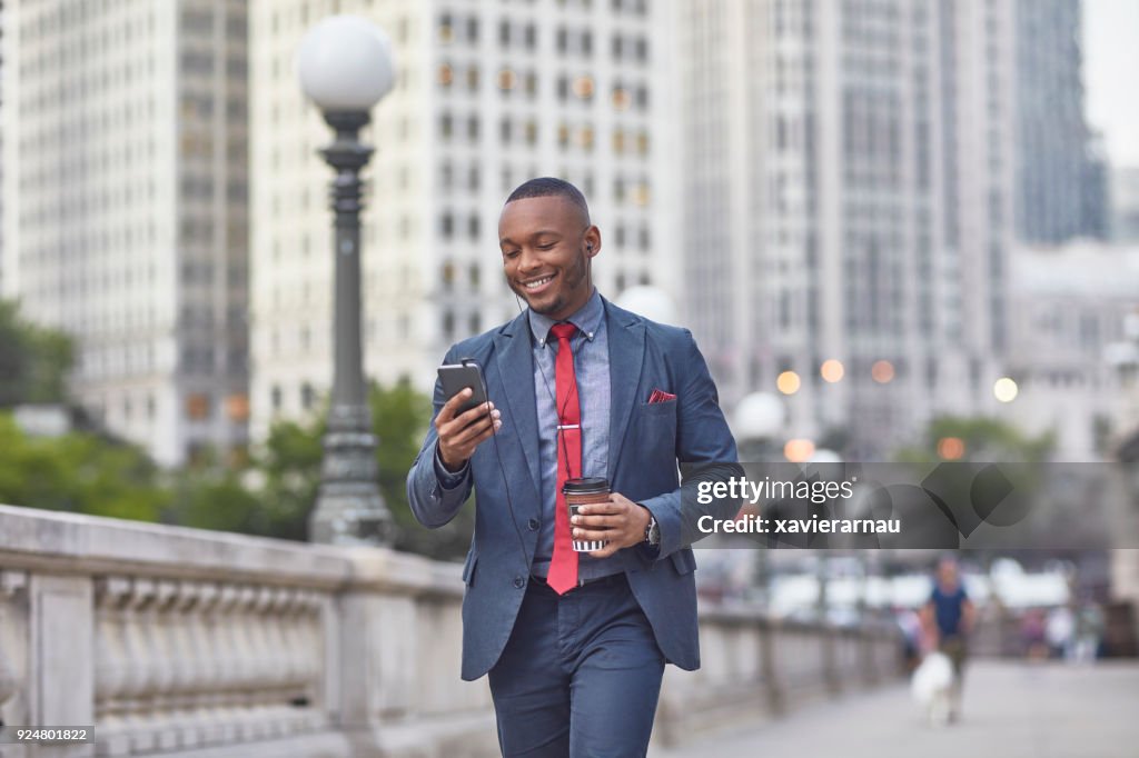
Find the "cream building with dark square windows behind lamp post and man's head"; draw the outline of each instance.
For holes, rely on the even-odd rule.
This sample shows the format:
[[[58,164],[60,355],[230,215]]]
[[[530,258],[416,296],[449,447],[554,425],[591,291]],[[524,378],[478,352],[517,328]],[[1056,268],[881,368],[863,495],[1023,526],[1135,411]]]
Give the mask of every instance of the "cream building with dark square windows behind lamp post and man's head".
[[[339,11],[391,36],[394,90],[362,214],[366,373],[431,392],[448,347],[516,316],[497,220],[533,176],[576,184],[603,233],[598,289],[675,291],[679,224],[669,17],[644,0],[254,0],[251,5],[252,434],[317,411],[331,385],[333,258],[316,150],[331,132],[294,68]]]

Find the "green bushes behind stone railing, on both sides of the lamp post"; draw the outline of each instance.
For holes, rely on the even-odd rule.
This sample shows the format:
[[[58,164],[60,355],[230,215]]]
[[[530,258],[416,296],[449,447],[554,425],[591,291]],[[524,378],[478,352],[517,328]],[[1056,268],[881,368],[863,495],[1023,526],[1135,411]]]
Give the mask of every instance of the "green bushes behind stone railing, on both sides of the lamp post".
[[[404,483],[431,419],[431,399],[400,382],[372,386],[369,403],[395,546],[461,558],[473,509],[432,530],[419,526],[407,500]],[[320,483],[323,429],[323,414],[308,422],[281,421],[248,461],[226,463],[205,454],[163,472],[137,447],[83,432],[28,437],[10,413],[0,413],[0,502],[303,541]]]

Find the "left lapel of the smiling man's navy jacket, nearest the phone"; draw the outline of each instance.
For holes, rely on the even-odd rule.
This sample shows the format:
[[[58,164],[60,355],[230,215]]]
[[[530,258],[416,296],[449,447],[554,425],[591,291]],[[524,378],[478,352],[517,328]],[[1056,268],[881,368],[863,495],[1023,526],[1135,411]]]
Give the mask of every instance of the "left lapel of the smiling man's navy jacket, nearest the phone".
[[[517,434],[518,454],[534,486],[541,492],[538,464],[538,406],[534,402],[534,357],[530,348],[530,324],[525,314],[508,323],[494,336],[498,380],[509,402],[499,409],[503,427]]]

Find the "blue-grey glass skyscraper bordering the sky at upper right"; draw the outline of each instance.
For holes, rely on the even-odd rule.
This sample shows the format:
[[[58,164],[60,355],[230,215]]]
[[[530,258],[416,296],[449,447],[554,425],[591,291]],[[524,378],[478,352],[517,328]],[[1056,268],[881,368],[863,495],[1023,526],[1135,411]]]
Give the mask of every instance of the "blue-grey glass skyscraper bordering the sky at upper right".
[[[1081,0],[1016,0],[1016,231],[1107,236],[1103,150],[1084,117]]]

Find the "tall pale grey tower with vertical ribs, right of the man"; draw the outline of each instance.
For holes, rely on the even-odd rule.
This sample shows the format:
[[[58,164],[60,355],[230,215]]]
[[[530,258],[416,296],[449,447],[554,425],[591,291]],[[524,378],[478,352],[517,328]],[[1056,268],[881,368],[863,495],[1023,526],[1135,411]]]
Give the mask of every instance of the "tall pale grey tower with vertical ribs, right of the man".
[[[1007,329],[1010,0],[678,13],[687,310],[729,407],[779,388],[788,436],[863,459],[986,407]]]

